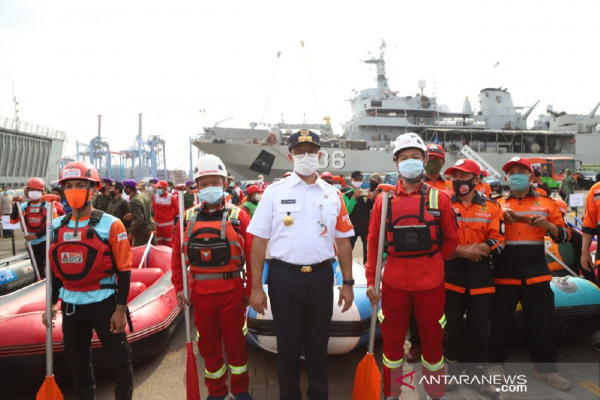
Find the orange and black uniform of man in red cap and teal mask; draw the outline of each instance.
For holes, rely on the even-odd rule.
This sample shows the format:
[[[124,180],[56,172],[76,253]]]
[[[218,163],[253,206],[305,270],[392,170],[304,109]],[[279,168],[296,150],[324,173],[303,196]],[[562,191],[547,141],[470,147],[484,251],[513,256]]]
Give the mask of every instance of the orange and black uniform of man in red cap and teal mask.
[[[509,193],[499,200],[503,209],[517,216],[545,216],[558,228],[556,243],[567,243],[571,237],[556,201],[540,196],[530,187],[522,199]],[[504,362],[509,326],[517,304],[521,302],[530,335],[529,351],[532,362],[542,374],[556,372],[556,347],[552,333],[554,293],[550,288],[552,276],[545,259],[544,237],[547,231],[523,222],[506,223],[506,247],[494,258],[494,297],[491,321],[489,362]],[[545,364],[542,364],[545,363]]]

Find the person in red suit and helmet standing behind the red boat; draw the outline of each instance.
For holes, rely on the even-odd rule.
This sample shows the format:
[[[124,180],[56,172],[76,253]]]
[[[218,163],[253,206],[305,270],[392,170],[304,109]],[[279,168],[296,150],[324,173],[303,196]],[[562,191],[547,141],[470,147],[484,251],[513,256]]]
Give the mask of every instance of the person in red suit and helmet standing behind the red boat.
[[[169,184],[166,181],[158,181],[156,193],[152,196],[152,208],[154,225],[156,225],[156,243],[170,247],[173,244],[175,217],[179,215],[179,202],[168,190]]]

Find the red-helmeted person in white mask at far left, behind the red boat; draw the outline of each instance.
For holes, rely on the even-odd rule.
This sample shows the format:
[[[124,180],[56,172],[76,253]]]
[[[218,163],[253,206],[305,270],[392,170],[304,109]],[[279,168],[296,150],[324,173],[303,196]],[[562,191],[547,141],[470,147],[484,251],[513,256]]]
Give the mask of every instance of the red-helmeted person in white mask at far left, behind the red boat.
[[[27,227],[28,236],[25,240],[31,243],[31,249],[34,254],[31,257],[35,258],[35,263],[38,266],[41,279],[46,278],[46,201],[41,201],[41,197],[46,191],[46,184],[40,178],[31,178],[25,187],[28,201],[21,203],[23,219]],[[15,201],[13,212],[10,214],[10,223],[19,224],[20,216],[16,201],[21,201],[20,197],[14,197]],[[58,216],[59,203],[55,204],[55,218]],[[62,207],[61,207],[62,208]]]

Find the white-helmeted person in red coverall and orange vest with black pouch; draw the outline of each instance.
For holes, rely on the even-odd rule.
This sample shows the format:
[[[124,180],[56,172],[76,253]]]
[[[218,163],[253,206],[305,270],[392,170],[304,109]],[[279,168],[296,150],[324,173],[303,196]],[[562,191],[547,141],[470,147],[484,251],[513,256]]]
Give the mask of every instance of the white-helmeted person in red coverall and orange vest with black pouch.
[[[246,233],[250,215],[224,200],[227,171],[220,158],[205,155],[197,160],[194,179],[202,203],[186,213],[190,218],[183,238],[185,260],[191,270],[191,302],[188,303],[183,294],[181,254],[178,251],[173,252],[171,258],[173,285],[179,305],[194,306],[198,348],[206,363],[208,400],[223,400],[229,396],[223,341],[231,372],[233,398],[250,400],[245,311],[251,287],[244,287],[244,261],[247,276],[251,271],[248,263],[252,239]],[[181,248],[181,242],[177,230],[174,248]],[[224,242],[227,244],[224,245]]]

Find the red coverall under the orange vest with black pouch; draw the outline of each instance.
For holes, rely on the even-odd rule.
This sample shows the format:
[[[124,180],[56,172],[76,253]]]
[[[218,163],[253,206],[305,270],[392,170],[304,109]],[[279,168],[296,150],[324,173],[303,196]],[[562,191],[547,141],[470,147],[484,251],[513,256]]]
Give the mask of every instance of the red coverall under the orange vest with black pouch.
[[[202,204],[203,205],[203,204]],[[232,207],[228,204],[227,207]],[[233,206],[235,207],[235,206]],[[192,215],[188,210],[188,215]],[[230,215],[231,215],[230,211]],[[252,248],[251,234],[246,233],[250,225],[250,215],[243,210],[239,213],[239,230],[245,239],[244,254],[246,257],[246,282],[241,278],[215,279],[212,281],[194,281],[190,277],[191,302],[194,305],[194,324],[198,330],[198,349],[205,361],[205,384],[209,395],[226,396],[227,368],[223,358],[222,348],[225,342],[227,362],[231,370],[231,392],[236,395],[248,391],[248,354],[246,352],[246,306],[244,297],[250,297],[252,290],[250,249]],[[235,227],[235,225],[234,225]],[[173,248],[181,248],[179,229],[175,231]],[[171,258],[173,272],[172,282],[176,290],[183,290],[181,276],[181,253],[173,252]],[[191,275],[190,275],[191,276]]]

